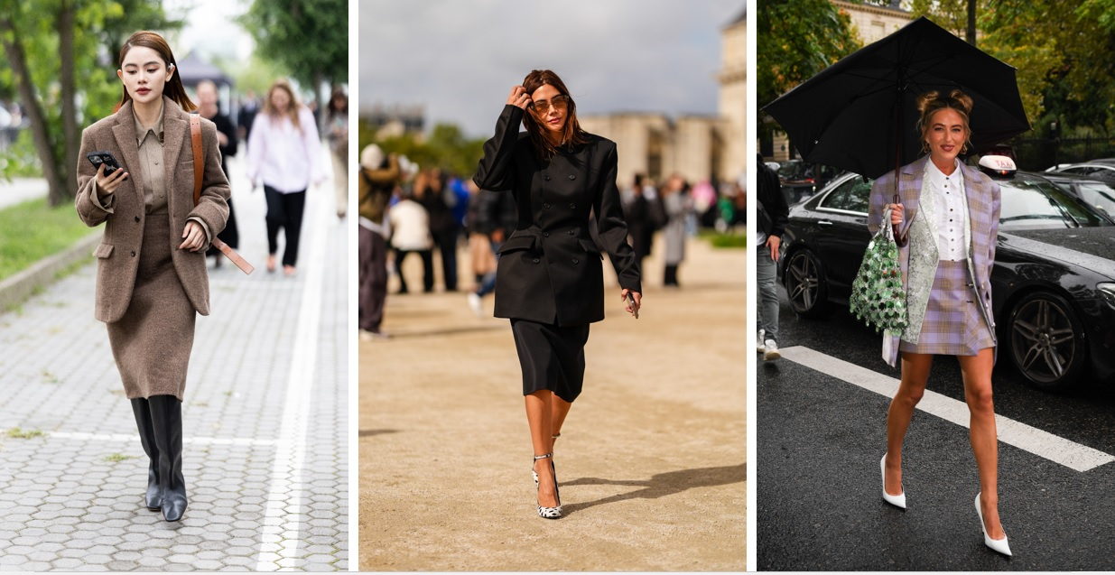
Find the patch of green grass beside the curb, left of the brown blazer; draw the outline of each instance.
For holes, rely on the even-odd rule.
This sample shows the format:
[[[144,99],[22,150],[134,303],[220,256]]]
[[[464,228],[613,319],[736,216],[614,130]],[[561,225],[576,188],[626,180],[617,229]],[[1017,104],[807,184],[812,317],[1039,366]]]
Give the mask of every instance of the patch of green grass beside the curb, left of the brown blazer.
[[[57,254],[93,233],[74,205],[47,206],[46,198],[0,209],[0,280]]]

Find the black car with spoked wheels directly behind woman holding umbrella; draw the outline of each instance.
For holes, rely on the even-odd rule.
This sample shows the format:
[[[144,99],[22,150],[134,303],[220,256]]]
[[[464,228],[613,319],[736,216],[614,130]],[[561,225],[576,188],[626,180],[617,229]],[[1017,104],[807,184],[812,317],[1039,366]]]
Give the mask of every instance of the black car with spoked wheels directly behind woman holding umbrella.
[[[1115,225],[1045,175],[997,179],[991,291],[1000,360],[1040,389],[1067,389],[1086,370],[1115,380]],[[798,315],[847,305],[871,240],[870,195],[870,179],[846,174],[791,208],[779,273]]]

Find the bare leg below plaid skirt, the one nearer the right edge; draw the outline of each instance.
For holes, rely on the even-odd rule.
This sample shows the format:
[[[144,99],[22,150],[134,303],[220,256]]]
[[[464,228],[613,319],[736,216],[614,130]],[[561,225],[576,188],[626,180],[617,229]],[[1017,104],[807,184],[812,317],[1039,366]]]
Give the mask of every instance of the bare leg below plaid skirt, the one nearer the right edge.
[[[980,509],[987,534],[992,539],[1006,536],[999,522],[999,440],[995,428],[995,403],[991,399],[991,368],[995,350],[982,349],[978,355],[960,355],[964,378],[964,400],[971,413],[969,437],[976,467],[979,468]]]

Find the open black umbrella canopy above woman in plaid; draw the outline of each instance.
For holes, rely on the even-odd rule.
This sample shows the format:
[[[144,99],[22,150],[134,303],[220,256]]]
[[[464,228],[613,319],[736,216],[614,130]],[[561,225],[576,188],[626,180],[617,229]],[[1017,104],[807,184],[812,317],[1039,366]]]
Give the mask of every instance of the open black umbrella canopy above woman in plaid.
[[[807,162],[879,177],[918,158],[915,99],[954,88],[972,97],[975,150],[1030,129],[1015,67],[922,17],[825,68],[763,109]]]

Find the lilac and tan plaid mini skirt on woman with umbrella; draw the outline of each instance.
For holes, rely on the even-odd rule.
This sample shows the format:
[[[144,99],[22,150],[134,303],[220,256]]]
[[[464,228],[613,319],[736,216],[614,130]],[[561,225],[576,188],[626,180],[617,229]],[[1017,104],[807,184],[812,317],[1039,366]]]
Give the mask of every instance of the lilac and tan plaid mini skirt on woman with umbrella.
[[[976,355],[979,350],[993,347],[991,330],[979,311],[971,283],[967,260],[938,262],[918,343],[902,340],[899,351]]]

